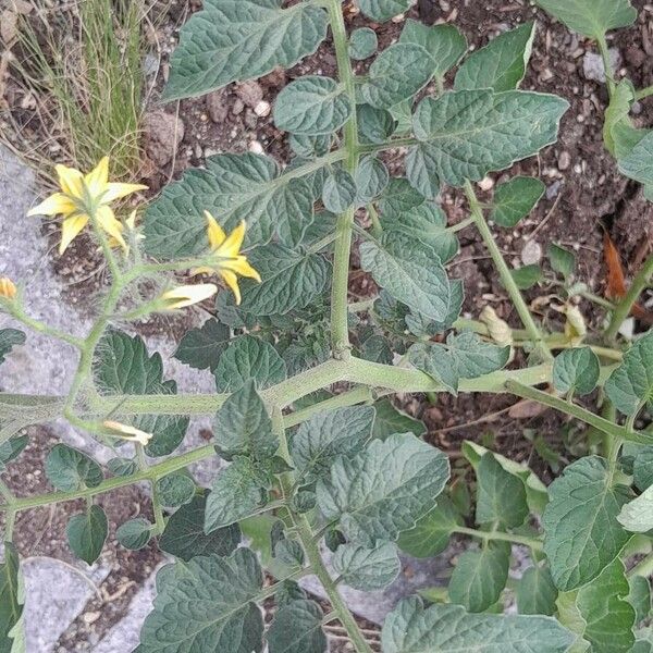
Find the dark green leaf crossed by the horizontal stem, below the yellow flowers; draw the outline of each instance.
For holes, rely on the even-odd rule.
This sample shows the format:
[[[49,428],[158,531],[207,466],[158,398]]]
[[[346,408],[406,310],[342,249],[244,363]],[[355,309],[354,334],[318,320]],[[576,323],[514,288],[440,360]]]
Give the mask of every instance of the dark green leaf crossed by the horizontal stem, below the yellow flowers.
[[[163,381],[161,356],[149,356],[139,336],[131,337],[123,331],[110,330],[100,341],[94,359],[94,377],[103,395],[176,394],[176,383]],[[174,415],[144,415],[127,421],[153,434],[145,447],[148,456],[165,456],[182,443],[189,420]]]

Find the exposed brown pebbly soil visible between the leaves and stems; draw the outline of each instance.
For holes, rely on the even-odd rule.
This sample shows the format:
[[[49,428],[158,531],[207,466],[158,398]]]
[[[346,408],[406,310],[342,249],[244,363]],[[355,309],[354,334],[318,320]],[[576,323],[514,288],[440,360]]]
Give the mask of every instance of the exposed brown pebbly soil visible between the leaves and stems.
[[[611,48],[619,53],[618,75],[627,75],[642,87],[653,84],[653,7],[646,0],[633,0],[633,4],[639,12],[637,24],[612,35],[608,41]],[[157,89],[162,87],[167,77],[168,57],[174,48],[178,25],[189,11],[198,8],[199,2],[172,1],[159,21],[156,34],[148,30],[152,49],[158,48],[160,57],[159,77],[153,82],[155,93],[148,111],[167,114],[164,120],[150,120],[152,127],[145,135],[146,158],[141,173],[151,194],[157,193],[169,180],[181,176],[184,170],[201,167],[206,157],[218,152],[266,152],[281,162],[287,162],[289,151],[286,137],[272,123],[269,107],[293,78],[307,73],[333,75],[335,72],[335,58],[326,40],[318,52],[287,72],[275,71],[258,82],[232,84],[204,98],[160,106],[156,100]],[[344,9],[348,27],[373,27],[381,47],[398,38],[403,21],[374,25],[358,14],[350,1],[344,3]],[[563,120],[558,143],[510,171],[512,174],[540,176],[546,183],[547,190],[530,218],[512,231],[497,232],[500,247],[515,267],[522,264],[527,245],[529,256],[532,257],[533,249],[538,251],[533,243],[539,245],[544,255],[551,242],[571,248],[577,254],[579,281],[584,282],[591,292],[603,296],[606,282],[603,235],[607,231],[620,252],[627,278],[631,278],[653,248],[653,204],[643,199],[636,184],[618,174],[614,160],[604,150],[601,125],[607,102],[605,87],[589,79],[583,72],[586,56],[595,51],[594,45],[535,10],[528,0],[419,0],[405,17],[418,17],[420,12],[427,22],[455,23],[475,49],[498,33],[537,16],[538,34],[522,88],[554,93],[566,98],[571,108]],[[357,65],[362,71],[367,64]],[[25,110],[19,111],[22,100],[20,89],[13,89],[12,93],[9,97],[15,101],[16,114],[25,122]],[[636,107],[634,113],[638,126],[652,125],[653,99]],[[161,125],[165,126],[163,131]],[[38,130],[33,132],[32,137],[38,139]],[[402,157],[395,155],[390,162],[394,170],[401,172]],[[506,176],[491,175],[485,185],[490,188]],[[451,223],[466,215],[467,208],[461,194],[447,190],[442,199]],[[44,229],[56,231],[53,225]],[[452,263],[451,273],[465,281],[466,313],[476,317],[484,306],[490,305],[502,318],[517,326],[519,320],[473,230],[460,232],[460,243],[461,254]],[[85,304],[84,296],[103,284],[100,259],[88,241],[76,241],[64,257],[53,260],[57,271],[69,284],[67,293],[72,303]],[[356,263],[355,251],[352,295],[356,298],[370,296],[375,292],[374,284],[356,269]],[[535,303],[542,296],[549,296],[549,301]],[[560,303],[555,287],[545,286],[528,292],[527,298],[534,303],[547,328],[560,329],[559,313],[551,308],[551,304]],[[644,301],[649,299],[644,298]],[[583,300],[580,309],[589,324],[602,323],[604,315],[593,304]],[[150,333],[170,332],[173,328],[181,329],[183,323],[180,325],[167,321],[143,325],[144,332]],[[475,439],[509,457],[528,460],[545,480],[550,480],[556,472],[556,457],[574,455],[568,443],[575,440],[577,433],[569,432],[559,416],[552,411],[537,415],[520,411],[521,417],[516,417],[515,408],[512,415],[507,411],[514,406],[515,399],[503,395],[440,395],[434,404],[430,404],[422,395],[416,395],[399,397],[397,402],[408,412],[426,421],[429,439],[447,451],[454,461],[459,460],[461,441]],[[488,415],[495,417],[479,421]],[[29,429],[28,432],[34,438],[21,464],[14,466],[12,477],[16,491],[20,489],[25,494],[46,490],[40,470],[42,452],[51,442],[45,429]],[[455,467],[459,473],[465,473],[461,463]],[[20,483],[16,482],[19,477]],[[102,501],[112,522],[111,533],[115,523],[137,514],[138,509],[145,513],[149,510],[147,496],[139,489],[113,493]],[[62,534],[67,518],[78,508],[78,505],[65,504],[32,512],[28,518],[19,520],[21,552],[24,555],[52,555],[70,560],[71,554],[62,541]],[[91,641],[89,632],[96,628],[107,630],[112,624],[111,611],[107,616],[107,605],[115,606],[115,614],[124,611],[125,602],[159,559],[158,554],[149,547],[136,553],[118,549],[112,535],[103,555],[111,560],[115,571],[110,575],[108,587],[107,583],[102,586],[102,593],[123,593],[114,601],[104,599],[101,618],[90,625],[87,621],[75,624],[67,639],[60,642],[63,646],[61,650],[85,650],[83,642]],[[99,605],[89,606],[87,612],[98,608]]]

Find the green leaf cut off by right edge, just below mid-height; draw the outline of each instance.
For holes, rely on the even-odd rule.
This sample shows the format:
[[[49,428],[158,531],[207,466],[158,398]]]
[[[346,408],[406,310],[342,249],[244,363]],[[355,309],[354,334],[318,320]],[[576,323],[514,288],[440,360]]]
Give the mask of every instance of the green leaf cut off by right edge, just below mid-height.
[[[637,415],[646,403],[653,406],[653,331],[626,352],[621,365],[605,382],[605,392],[624,415]]]

